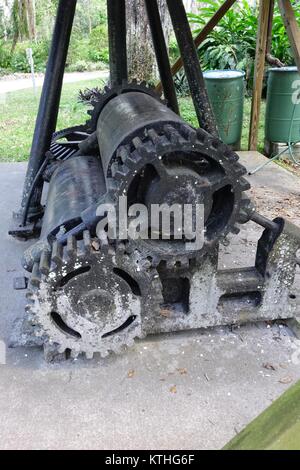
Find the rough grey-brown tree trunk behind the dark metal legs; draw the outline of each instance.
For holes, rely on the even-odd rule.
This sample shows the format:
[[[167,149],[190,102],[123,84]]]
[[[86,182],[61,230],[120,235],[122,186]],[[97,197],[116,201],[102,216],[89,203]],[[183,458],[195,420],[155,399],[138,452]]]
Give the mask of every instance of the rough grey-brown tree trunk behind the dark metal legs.
[[[167,44],[171,22],[165,0],[158,0]],[[127,0],[128,69],[129,79],[153,82],[158,78],[151,31],[144,0]]]

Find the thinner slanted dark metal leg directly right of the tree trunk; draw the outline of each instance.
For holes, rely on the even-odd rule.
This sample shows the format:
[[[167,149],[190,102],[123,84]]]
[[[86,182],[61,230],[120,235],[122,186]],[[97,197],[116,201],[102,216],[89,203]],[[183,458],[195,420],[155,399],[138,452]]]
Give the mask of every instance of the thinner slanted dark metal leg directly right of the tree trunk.
[[[168,49],[161,24],[157,0],[145,0],[153,46],[155,49],[159,75],[168,106],[179,114],[179,106],[173,82]]]

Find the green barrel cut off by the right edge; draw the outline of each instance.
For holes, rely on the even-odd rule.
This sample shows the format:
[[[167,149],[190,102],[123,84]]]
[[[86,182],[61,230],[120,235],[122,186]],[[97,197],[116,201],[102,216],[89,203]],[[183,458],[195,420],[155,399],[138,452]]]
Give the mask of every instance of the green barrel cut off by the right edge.
[[[298,142],[300,104],[295,104],[295,101],[300,90],[300,74],[297,67],[272,68],[268,74],[266,140],[285,143],[290,139],[291,142]]]

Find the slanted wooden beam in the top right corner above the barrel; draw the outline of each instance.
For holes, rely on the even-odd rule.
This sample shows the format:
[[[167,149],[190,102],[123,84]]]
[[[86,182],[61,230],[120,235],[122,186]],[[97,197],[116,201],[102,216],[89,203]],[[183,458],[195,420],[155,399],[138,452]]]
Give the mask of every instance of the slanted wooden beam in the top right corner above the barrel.
[[[278,3],[300,73],[300,28],[290,0],[278,0]]]

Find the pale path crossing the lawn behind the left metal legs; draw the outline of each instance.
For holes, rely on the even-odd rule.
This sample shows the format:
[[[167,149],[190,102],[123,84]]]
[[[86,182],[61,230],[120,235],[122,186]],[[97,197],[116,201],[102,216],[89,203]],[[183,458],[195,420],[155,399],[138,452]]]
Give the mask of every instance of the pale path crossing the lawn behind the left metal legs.
[[[64,77],[64,83],[75,83],[82,80],[94,80],[97,78],[106,79],[107,77],[107,71],[66,73]],[[38,87],[42,86],[43,82],[43,76],[36,77],[36,85]],[[20,78],[16,80],[10,78],[8,80],[0,80],[0,94],[10,93],[17,90],[24,90],[27,88],[32,88],[31,78]]]

